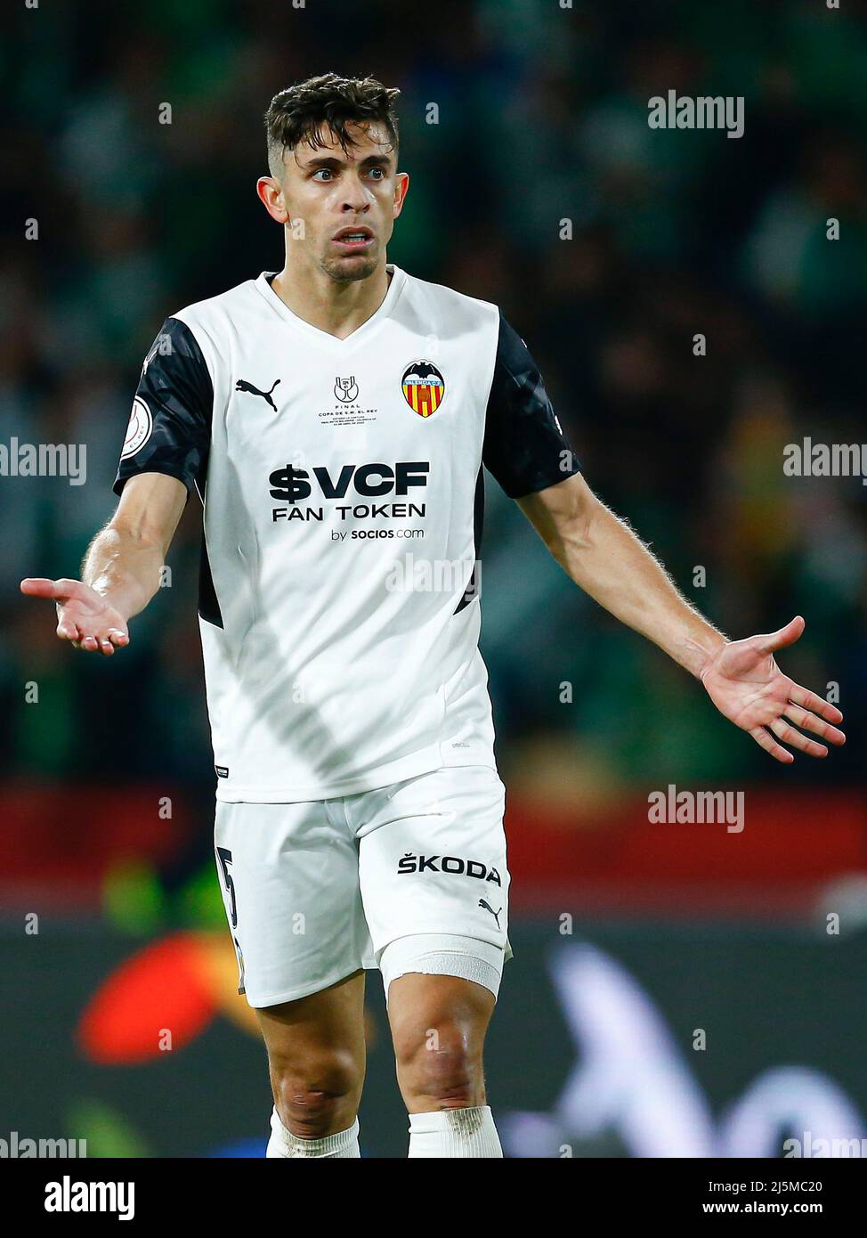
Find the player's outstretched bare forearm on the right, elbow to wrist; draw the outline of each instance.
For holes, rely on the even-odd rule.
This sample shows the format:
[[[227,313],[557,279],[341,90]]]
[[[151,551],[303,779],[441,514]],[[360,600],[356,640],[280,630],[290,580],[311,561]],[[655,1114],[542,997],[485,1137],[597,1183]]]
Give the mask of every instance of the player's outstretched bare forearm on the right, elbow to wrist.
[[[585,593],[699,676],[726,638],[677,589],[663,566],[604,504],[562,522],[548,548]]]

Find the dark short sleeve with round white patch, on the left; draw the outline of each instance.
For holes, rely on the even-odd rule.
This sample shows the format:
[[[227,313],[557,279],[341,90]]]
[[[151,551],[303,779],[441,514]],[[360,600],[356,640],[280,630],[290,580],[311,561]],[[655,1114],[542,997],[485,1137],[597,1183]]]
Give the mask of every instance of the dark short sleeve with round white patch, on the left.
[[[214,387],[195,335],[167,318],[145,358],[115,494],[139,473],[167,473],[192,490],[208,457]]]

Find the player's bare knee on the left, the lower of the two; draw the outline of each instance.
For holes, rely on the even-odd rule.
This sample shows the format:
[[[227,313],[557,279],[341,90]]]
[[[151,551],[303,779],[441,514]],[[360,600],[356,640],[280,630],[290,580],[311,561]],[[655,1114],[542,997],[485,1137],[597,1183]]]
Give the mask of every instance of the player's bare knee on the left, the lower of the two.
[[[322,1139],[354,1120],[361,1080],[354,1056],[333,1051],[307,1062],[271,1061],[271,1082],[280,1120],[302,1139]]]

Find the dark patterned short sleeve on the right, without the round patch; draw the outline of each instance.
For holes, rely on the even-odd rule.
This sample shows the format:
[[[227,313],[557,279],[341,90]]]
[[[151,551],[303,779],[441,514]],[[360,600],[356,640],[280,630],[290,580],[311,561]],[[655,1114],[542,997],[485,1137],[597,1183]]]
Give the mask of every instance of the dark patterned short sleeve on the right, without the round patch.
[[[538,366],[502,312],[482,463],[510,499],[536,494],[581,472]]]

